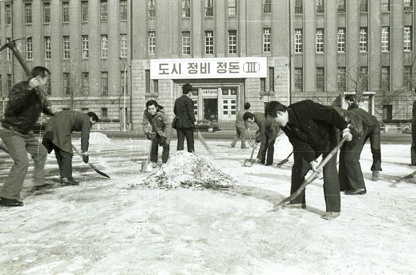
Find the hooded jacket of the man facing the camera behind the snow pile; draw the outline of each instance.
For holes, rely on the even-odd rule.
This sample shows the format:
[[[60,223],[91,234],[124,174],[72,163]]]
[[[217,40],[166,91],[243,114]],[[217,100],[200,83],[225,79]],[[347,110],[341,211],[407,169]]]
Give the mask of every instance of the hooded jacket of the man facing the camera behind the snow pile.
[[[152,132],[166,137],[166,143],[169,144],[172,136],[172,126],[171,121],[162,106],[158,106],[158,110],[154,116],[150,115],[147,108],[144,110],[142,120],[142,130],[144,133],[147,133],[147,125],[149,125],[149,123],[152,126]]]

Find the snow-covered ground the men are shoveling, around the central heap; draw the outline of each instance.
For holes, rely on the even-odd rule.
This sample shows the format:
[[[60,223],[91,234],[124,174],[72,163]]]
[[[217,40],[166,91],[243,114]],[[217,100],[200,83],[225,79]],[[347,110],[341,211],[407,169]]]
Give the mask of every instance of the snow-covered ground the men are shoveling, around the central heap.
[[[195,136],[196,138],[196,136]],[[250,149],[229,140],[196,140],[196,154],[237,185],[227,189],[149,188],[140,172],[149,142],[92,136],[94,172],[74,156],[80,186],[59,186],[54,153],[46,178],[23,207],[0,208],[1,274],[411,274],[416,270],[416,184],[410,145],[382,145],[381,179],[371,180],[369,144],[361,166],[367,194],[342,198],[341,216],[325,221],[322,180],[306,188],[306,209],[279,209],[289,196],[292,158],[282,168],[243,166]],[[79,141],[74,141],[80,147]],[[237,144],[239,146],[240,143]],[[176,152],[176,141],[171,143]],[[160,148],[160,153],[161,153]],[[275,164],[292,148],[279,137]],[[0,184],[12,165],[0,152]]]

